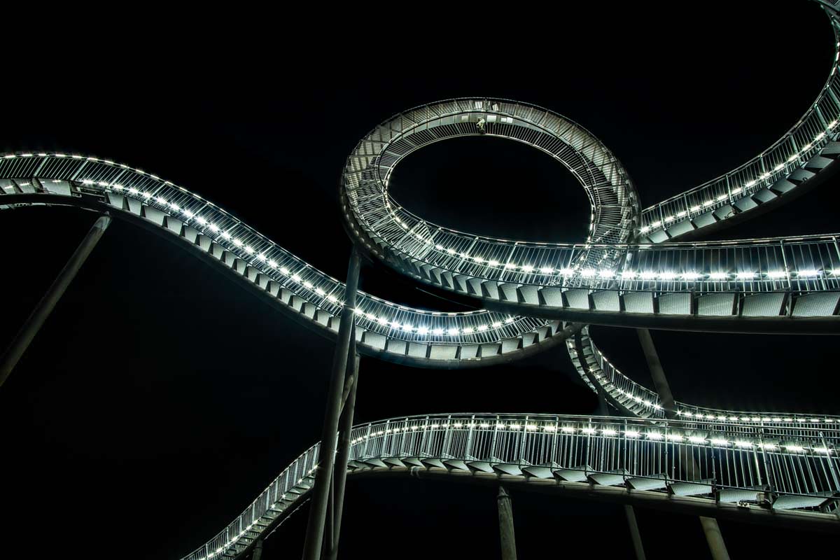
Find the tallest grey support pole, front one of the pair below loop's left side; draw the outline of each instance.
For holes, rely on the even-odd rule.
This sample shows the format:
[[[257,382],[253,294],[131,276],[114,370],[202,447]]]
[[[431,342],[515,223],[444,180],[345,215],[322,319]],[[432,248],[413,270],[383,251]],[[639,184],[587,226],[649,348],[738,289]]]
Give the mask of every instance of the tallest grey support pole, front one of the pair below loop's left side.
[[[339,336],[333,353],[333,371],[327,392],[327,411],[324,414],[321,448],[318,452],[318,468],[315,470],[315,485],[312,488],[312,503],[309,506],[309,522],[306,542],[303,545],[304,560],[321,560],[323,531],[327,520],[327,505],[333,479],[335,446],[339,438],[339,416],[341,396],[344,392],[344,372],[347,369],[347,355],[350,339],[353,338],[356,290],[359,287],[360,258],[354,248],[347,267],[347,285],[344,291],[344,310],[339,322]]]

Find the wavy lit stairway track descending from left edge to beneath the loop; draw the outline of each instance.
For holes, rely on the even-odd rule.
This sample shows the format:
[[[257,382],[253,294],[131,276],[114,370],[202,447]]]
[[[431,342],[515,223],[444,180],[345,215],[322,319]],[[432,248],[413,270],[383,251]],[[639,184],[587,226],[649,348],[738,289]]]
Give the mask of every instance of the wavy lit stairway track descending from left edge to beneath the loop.
[[[150,228],[199,258],[225,264],[245,287],[327,337],[338,332],[344,283],[307,264],[201,196],[126,165],[65,154],[0,159],[0,208],[81,207]],[[519,359],[570,335],[559,321],[494,311],[446,313],[359,292],[360,352],[432,368]]]

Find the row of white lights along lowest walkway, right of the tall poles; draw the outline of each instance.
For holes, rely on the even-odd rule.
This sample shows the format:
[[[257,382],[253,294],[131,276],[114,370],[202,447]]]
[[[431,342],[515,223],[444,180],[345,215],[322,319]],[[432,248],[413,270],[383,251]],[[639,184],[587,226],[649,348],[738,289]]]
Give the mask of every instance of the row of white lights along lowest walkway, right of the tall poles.
[[[360,442],[364,442],[366,439],[370,437],[382,437],[388,434],[395,434],[399,435],[400,433],[404,432],[417,432],[423,430],[447,430],[447,429],[464,429],[464,428],[479,428],[482,430],[508,430],[511,432],[519,432],[525,430],[527,432],[539,432],[542,430],[543,432],[561,432],[564,434],[583,434],[585,436],[596,436],[599,432],[601,436],[604,437],[617,437],[619,434],[623,433],[624,437],[630,439],[637,439],[640,437],[645,437],[649,441],[668,441],[668,442],[690,442],[693,444],[705,444],[711,443],[711,445],[716,447],[728,447],[730,444],[733,447],[739,447],[742,449],[749,449],[752,447],[759,447],[768,451],[773,451],[780,447],[785,447],[791,453],[801,453],[806,451],[807,449],[812,449],[817,453],[832,453],[832,449],[828,447],[806,447],[791,443],[790,445],[777,445],[774,443],[769,442],[748,442],[746,440],[728,440],[722,437],[712,437],[706,438],[701,436],[684,436],[680,435],[675,432],[669,432],[663,434],[662,432],[650,431],[650,432],[640,432],[638,430],[628,429],[628,430],[618,430],[612,427],[605,427],[605,428],[596,428],[592,426],[586,427],[573,427],[573,426],[557,426],[554,424],[543,424],[542,426],[538,424],[518,424],[516,422],[512,423],[502,423],[502,422],[452,422],[452,423],[441,423],[441,424],[423,424],[420,426],[404,426],[402,428],[386,428],[385,430],[381,430],[379,432],[372,432],[370,434],[366,434],[365,436],[356,437],[351,443],[356,444]]]

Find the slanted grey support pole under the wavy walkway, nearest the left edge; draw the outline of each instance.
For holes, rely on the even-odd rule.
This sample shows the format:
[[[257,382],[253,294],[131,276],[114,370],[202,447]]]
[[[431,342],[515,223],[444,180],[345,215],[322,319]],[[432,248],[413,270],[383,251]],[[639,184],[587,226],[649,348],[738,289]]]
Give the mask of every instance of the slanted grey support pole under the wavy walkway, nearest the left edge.
[[[84,264],[85,260],[87,260],[87,255],[91,254],[93,248],[97,246],[99,238],[101,238],[102,233],[105,233],[105,230],[108,229],[108,224],[110,223],[111,217],[107,214],[98,217],[97,221],[93,222],[93,226],[90,231],[88,231],[85,238],[81,240],[81,243],[79,243],[76,251],[71,255],[67,264],[64,265],[64,268],[61,269],[60,273],[58,273],[58,276],[55,277],[52,285],[50,285],[50,289],[47,290],[44,297],[42,297],[41,301],[38,302],[38,305],[35,306],[32,314],[29,315],[29,318],[24,323],[24,326],[20,328],[17,336],[6,350],[6,353],[3,354],[2,361],[0,361],[0,387],[2,387],[3,383],[5,383],[6,379],[8,379],[8,376],[12,373],[14,366],[18,364],[18,360],[24,355],[24,352],[26,352],[26,348],[29,348],[29,343],[31,343],[35,335],[38,334],[38,331],[47,320],[47,317],[50,317],[50,313],[55,308],[55,304],[58,303],[61,296],[64,295],[67,286],[70,285],[71,281],[73,281],[76,277],[76,273],[81,268],[81,265]]]

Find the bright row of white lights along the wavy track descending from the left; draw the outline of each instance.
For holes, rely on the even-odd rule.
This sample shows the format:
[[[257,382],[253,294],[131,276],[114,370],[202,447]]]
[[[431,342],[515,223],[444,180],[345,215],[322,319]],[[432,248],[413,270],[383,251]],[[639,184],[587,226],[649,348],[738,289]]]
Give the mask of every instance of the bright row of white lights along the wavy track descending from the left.
[[[153,175],[150,175],[150,176],[153,176]],[[184,208],[179,207],[174,202],[166,201],[165,198],[163,198],[161,196],[155,197],[155,196],[152,196],[151,193],[149,193],[149,192],[140,192],[134,187],[129,187],[128,189],[126,189],[122,185],[110,184],[110,183],[107,183],[105,181],[91,181],[89,179],[85,179],[85,180],[82,180],[81,183],[83,185],[87,185],[87,186],[96,185],[96,186],[101,186],[101,187],[104,187],[104,188],[110,188],[110,189],[113,189],[113,191],[123,191],[123,192],[128,191],[129,196],[142,198],[146,202],[148,202],[150,200],[154,200],[158,204],[160,204],[160,206],[171,208],[171,210],[173,212],[180,212],[181,215],[183,217],[186,217],[188,220],[194,220],[199,225],[201,225],[202,228],[207,228],[211,232],[217,234],[218,237],[223,238],[225,241],[228,241],[229,243],[233,243],[235,247],[237,247],[238,249],[244,250],[244,252],[246,254],[255,255],[255,250],[253,248],[249,247],[248,245],[244,245],[244,243],[242,243],[239,239],[233,238],[230,233],[220,231],[220,229],[215,224],[213,224],[211,222],[207,222],[207,220],[204,219],[203,217],[196,216],[195,214],[193,214],[189,210],[186,210]],[[289,279],[292,280],[293,282],[295,282],[299,285],[302,285],[307,290],[314,291],[318,296],[323,297],[324,299],[326,299],[327,301],[329,301],[333,305],[344,306],[344,301],[340,301],[337,297],[333,296],[332,294],[328,294],[324,290],[322,290],[321,288],[315,287],[314,285],[312,285],[311,282],[309,282],[307,280],[302,280],[301,276],[298,273],[292,273],[285,266],[279,266],[276,263],[276,261],[274,261],[273,259],[268,259],[268,257],[264,253],[256,254],[255,257],[256,257],[256,259],[259,259],[260,262],[270,266],[272,269],[279,270],[282,275],[288,276]],[[414,332],[419,336],[427,336],[428,334],[432,334],[434,336],[444,336],[444,335],[457,336],[459,334],[473,334],[475,332],[486,332],[490,329],[498,329],[498,328],[501,328],[504,325],[509,325],[512,322],[516,321],[516,319],[514,317],[507,317],[503,322],[497,321],[497,322],[493,322],[489,325],[479,325],[475,328],[464,327],[464,328],[459,329],[459,328],[451,327],[451,328],[444,329],[444,328],[439,328],[439,327],[438,328],[415,327],[415,326],[413,326],[411,324],[407,324],[407,323],[401,324],[400,322],[396,322],[396,321],[388,321],[386,319],[386,317],[376,317],[373,313],[368,313],[368,312],[362,311],[358,308],[354,309],[353,311],[357,315],[363,316],[363,317],[369,319],[372,322],[379,323],[382,326],[391,327],[391,329],[393,329],[393,330],[402,330],[403,332]]]

